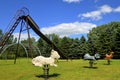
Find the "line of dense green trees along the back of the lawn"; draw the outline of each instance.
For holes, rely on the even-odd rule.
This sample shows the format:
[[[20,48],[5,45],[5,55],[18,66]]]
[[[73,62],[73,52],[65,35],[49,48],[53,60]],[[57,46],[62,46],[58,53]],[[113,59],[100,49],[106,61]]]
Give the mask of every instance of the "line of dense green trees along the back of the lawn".
[[[0,30],[0,36],[2,31]],[[111,22],[93,28],[87,38],[84,36],[79,38],[59,37],[56,34],[46,35],[62,52],[69,58],[81,58],[84,54],[100,53],[102,58],[109,51],[114,51],[114,58],[120,58],[120,22]],[[10,37],[8,43],[16,43],[13,36]],[[29,40],[21,41],[26,44]],[[41,37],[38,41],[31,38],[32,45],[37,46],[43,56],[50,56],[52,45],[49,45]],[[26,46],[28,49],[28,46]],[[21,50],[22,51],[22,50]],[[34,52],[35,53],[35,52]],[[25,56],[21,54],[22,56]],[[36,56],[39,54],[35,54]]]

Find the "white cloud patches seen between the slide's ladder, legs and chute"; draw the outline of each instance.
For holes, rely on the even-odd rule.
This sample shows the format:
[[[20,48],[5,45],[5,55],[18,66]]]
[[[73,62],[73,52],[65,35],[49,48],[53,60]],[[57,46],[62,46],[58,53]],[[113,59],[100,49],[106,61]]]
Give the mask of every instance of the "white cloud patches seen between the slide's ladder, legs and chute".
[[[13,33],[14,35],[14,38],[17,38],[19,37],[19,33]],[[33,35],[33,34],[30,34],[30,37],[34,37],[36,40],[38,40],[38,37],[37,35]],[[27,33],[21,33],[21,36],[20,36],[20,40],[27,40],[28,39],[28,34]]]

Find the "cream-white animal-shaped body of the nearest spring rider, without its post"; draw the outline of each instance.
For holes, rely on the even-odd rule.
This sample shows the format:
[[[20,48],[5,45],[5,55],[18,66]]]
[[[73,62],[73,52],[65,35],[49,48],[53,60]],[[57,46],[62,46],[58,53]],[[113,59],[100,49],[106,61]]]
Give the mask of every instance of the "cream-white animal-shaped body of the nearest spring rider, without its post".
[[[57,67],[57,64],[55,64],[55,60],[58,60],[59,58],[60,55],[58,54],[58,52],[52,49],[50,57],[37,56],[32,59],[32,63],[35,66],[39,66],[39,67],[43,67],[44,65]]]

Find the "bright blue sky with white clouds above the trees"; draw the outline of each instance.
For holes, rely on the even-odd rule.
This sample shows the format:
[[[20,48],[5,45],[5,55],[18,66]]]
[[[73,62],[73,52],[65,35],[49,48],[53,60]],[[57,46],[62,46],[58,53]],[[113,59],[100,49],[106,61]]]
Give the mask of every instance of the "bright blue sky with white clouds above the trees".
[[[120,21],[120,0],[0,0],[0,29],[6,29],[16,11],[29,9],[44,34],[80,38],[94,27]],[[18,36],[19,26],[13,33]],[[31,31],[31,36],[39,37]],[[22,39],[27,38],[24,32]]]

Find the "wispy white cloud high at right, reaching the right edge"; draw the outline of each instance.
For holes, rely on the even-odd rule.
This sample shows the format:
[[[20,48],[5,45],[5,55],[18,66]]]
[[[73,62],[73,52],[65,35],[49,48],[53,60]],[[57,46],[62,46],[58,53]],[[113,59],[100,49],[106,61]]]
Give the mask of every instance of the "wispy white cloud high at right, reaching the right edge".
[[[111,12],[120,12],[120,7],[112,8],[109,5],[103,5],[99,7],[98,10],[79,14],[78,17],[81,17],[82,19],[88,18],[91,20],[100,20],[103,15]]]

